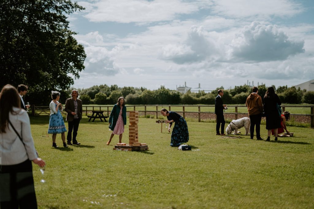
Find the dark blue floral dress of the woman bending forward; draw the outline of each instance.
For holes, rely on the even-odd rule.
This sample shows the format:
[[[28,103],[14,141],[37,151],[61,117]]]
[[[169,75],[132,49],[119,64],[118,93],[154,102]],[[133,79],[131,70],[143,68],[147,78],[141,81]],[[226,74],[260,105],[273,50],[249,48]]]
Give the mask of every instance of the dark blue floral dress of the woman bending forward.
[[[180,146],[189,141],[189,131],[187,130],[187,121],[180,117],[172,129],[170,146]]]

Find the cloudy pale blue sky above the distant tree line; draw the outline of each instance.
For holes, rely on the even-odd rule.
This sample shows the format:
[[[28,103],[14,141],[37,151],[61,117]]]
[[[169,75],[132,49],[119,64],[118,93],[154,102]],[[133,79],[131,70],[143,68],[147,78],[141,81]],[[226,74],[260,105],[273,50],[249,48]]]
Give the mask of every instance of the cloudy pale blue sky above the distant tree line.
[[[85,47],[76,88],[205,90],[314,79],[314,1],[90,0],[69,16]]]

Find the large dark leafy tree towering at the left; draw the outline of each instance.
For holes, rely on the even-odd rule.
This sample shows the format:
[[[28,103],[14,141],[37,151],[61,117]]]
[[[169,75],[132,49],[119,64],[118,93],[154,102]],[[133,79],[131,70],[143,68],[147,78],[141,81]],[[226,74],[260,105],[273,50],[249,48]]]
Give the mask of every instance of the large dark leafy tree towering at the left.
[[[84,69],[84,47],[67,15],[84,9],[70,0],[0,2],[0,85],[29,86],[28,101],[42,104],[66,90]],[[65,98],[63,98],[65,99]]]

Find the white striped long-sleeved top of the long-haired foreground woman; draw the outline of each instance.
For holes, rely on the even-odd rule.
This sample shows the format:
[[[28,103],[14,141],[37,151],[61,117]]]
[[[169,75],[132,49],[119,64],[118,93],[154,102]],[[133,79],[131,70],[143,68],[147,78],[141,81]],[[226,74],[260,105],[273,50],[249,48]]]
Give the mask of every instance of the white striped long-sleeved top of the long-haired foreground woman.
[[[33,137],[30,131],[30,118],[24,109],[13,107],[13,110],[16,114],[9,112],[9,120],[22,137],[25,146],[10,124],[9,128],[6,128],[5,133],[0,130],[1,165],[15,165],[27,159],[34,160],[37,158]]]

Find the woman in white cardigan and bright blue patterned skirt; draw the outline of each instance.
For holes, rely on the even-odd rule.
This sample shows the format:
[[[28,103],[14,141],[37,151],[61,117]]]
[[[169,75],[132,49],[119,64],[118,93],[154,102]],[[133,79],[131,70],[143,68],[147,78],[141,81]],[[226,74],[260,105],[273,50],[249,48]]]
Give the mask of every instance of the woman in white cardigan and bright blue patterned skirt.
[[[64,120],[60,112],[63,110],[62,104],[59,103],[60,93],[58,91],[51,91],[51,99],[52,101],[50,102],[49,105],[50,119],[48,134],[52,134],[53,147],[58,147],[56,144],[57,134],[61,134],[63,146],[67,147],[68,145],[65,143],[65,132],[67,132],[67,129],[65,128]]]

